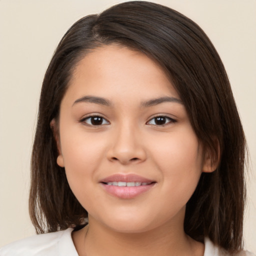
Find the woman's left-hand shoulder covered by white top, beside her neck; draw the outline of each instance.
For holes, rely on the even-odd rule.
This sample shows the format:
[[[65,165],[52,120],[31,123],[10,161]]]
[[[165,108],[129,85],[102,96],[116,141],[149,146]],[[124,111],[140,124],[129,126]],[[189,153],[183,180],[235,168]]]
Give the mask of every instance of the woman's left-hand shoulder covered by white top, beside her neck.
[[[0,256],[77,256],[72,242],[72,228],[52,233],[37,234],[0,248]]]

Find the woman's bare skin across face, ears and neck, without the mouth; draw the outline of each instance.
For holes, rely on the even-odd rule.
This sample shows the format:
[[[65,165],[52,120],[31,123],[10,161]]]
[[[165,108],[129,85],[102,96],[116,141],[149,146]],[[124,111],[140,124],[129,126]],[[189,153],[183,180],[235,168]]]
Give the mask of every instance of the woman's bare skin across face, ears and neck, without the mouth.
[[[103,97],[110,105],[84,96]],[[162,97],[172,101],[142,103]],[[91,114],[102,123],[92,125]],[[157,63],[115,44],[94,49],[78,62],[59,122],[51,125],[59,131],[57,163],[88,211],[88,226],[72,233],[79,255],[203,255],[204,245],[184,233],[183,221],[201,172],[214,166]],[[116,173],[155,183],[134,198],[119,198],[100,183]]]

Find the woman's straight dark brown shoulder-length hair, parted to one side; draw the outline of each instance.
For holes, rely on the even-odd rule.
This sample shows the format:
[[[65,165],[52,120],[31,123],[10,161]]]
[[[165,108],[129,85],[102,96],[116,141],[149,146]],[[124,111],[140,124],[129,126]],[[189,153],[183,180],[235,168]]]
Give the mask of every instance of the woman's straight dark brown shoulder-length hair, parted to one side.
[[[187,202],[184,230],[203,241],[208,236],[229,252],[242,248],[245,198],[245,138],[224,66],[202,29],[168,7],[131,1],[74,23],[60,40],[44,76],[31,159],[29,209],[37,233],[85,223],[80,205],[56,164],[50,121],[75,64],[90,49],[119,43],[157,61],[173,82],[192,127],[213,158],[212,173],[202,173]],[[218,148],[219,144],[219,148]],[[219,150],[218,150],[219,149]]]

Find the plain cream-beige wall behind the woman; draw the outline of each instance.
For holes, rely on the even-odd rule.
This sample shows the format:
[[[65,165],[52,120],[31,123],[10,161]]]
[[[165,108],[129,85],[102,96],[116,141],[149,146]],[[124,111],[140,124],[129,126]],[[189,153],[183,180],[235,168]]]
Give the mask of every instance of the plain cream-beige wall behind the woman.
[[[212,40],[229,75],[250,149],[245,247],[256,252],[256,0],[154,0]],[[116,0],[0,0],[0,246],[34,233],[27,197],[38,97],[67,28]]]

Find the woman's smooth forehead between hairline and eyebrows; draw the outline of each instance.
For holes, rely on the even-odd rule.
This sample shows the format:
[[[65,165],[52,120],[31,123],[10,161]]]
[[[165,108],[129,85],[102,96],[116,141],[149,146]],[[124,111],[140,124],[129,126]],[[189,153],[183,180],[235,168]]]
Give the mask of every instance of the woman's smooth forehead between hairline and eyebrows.
[[[116,44],[87,53],[76,65],[67,92],[74,97],[175,96],[178,94],[160,65],[145,54]]]

